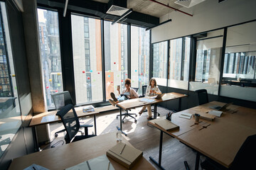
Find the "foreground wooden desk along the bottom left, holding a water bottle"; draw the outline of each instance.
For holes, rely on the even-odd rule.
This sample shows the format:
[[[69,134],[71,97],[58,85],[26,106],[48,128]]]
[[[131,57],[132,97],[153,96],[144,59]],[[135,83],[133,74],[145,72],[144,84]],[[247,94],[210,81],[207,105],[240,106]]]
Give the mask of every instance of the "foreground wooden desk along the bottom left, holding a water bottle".
[[[116,139],[116,133],[112,132],[97,137],[90,137],[86,140],[80,140],[61,147],[46,149],[42,152],[28,154],[14,159],[13,162],[11,162],[9,170],[24,169],[31,164],[38,164],[51,170],[66,169],[70,166],[75,166],[86,160],[106,154],[108,149],[117,144]],[[122,142],[132,146],[124,137],[122,137]],[[110,159],[110,162],[114,166],[114,169],[126,169],[124,166],[114,162],[113,159]],[[154,167],[142,157],[132,169],[154,169]]]

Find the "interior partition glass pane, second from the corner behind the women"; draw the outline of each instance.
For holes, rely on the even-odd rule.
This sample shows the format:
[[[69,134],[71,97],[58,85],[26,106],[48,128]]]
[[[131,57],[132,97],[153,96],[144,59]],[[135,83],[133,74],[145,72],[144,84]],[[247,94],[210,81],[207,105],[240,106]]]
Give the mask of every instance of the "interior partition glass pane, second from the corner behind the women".
[[[191,38],[170,40],[170,75],[168,86],[188,89]]]

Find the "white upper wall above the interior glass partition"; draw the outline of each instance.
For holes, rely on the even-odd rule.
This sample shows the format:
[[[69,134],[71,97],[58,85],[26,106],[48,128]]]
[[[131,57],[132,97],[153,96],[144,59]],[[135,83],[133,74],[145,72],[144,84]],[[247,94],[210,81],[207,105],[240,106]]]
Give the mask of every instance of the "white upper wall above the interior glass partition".
[[[162,16],[161,22],[168,19],[172,21],[151,30],[152,42],[179,38],[184,35],[255,20],[255,7],[255,0],[227,0],[222,3],[218,3],[217,0],[206,0],[191,8],[183,7],[180,9],[181,11],[191,13],[193,16],[178,11]]]

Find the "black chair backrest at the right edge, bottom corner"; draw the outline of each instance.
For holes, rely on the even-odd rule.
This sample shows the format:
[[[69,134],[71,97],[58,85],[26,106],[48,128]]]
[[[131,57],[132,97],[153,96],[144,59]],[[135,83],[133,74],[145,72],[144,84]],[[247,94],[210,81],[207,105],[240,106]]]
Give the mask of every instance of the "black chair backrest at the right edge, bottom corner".
[[[243,142],[242,147],[235,155],[235,159],[230,166],[230,170],[237,169],[255,169],[255,156],[256,153],[256,135],[247,137]]]

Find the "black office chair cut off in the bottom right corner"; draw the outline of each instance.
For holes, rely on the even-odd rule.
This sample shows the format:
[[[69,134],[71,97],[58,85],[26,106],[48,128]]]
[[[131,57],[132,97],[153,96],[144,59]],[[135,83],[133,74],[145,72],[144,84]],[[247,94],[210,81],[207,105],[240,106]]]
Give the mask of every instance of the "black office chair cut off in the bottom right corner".
[[[245,142],[238,150],[235,155],[235,159],[230,166],[230,170],[240,170],[240,169],[255,169],[255,157],[256,153],[256,135],[247,137]],[[211,159],[206,159],[201,163],[201,168],[206,170],[211,169],[223,169],[220,164],[213,162]]]

